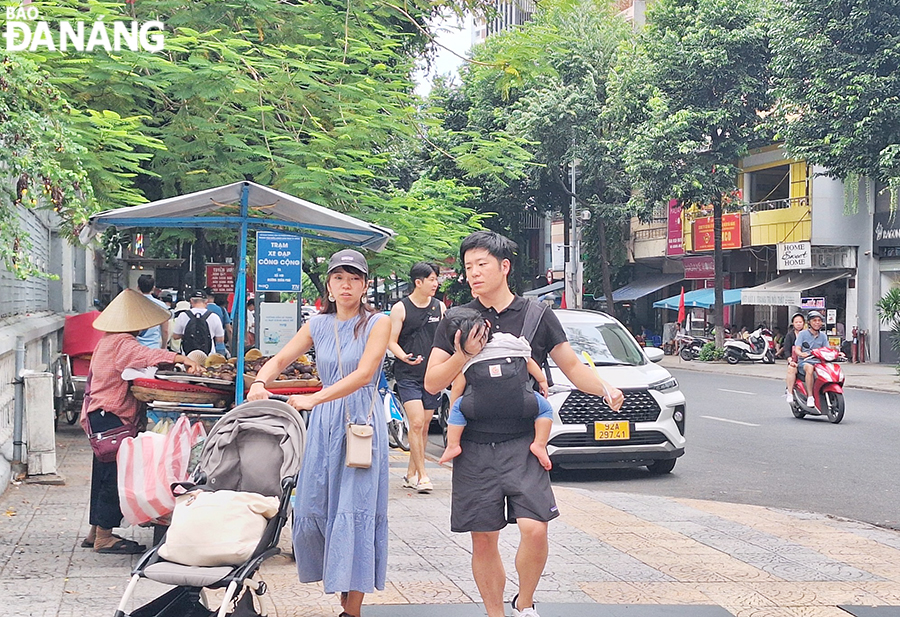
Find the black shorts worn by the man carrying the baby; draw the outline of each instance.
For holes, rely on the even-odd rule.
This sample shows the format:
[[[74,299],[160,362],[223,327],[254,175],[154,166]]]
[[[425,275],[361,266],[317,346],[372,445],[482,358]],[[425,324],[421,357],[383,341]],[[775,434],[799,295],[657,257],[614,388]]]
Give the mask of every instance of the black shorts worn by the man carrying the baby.
[[[532,441],[462,442],[453,460],[451,531],[499,531],[517,518],[546,522],[559,516],[550,473],[528,449]]]

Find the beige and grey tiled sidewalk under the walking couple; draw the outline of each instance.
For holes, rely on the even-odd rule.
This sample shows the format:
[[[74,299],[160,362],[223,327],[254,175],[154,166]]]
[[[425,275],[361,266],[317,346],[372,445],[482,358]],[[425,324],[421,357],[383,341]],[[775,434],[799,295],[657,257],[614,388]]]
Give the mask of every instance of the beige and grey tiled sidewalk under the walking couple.
[[[22,484],[0,497],[2,615],[111,616],[128,579],[132,558],[78,546],[88,527],[90,453],[76,429],[63,427],[59,436],[66,486]],[[437,617],[414,605],[483,614],[469,539],[449,532],[450,471],[432,465],[437,488],[419,495],[400,488],[405,454],[392,452],[391,468],[388,585],[367,597],[379,605],[374,617],[400,615],[389,605],[406,606],[402,615]],[[649,617],[663,614],[663,605],[682,605],[685,617],[699,616],[699,605],[739,617],[847,617],[838,605],[894,606],[900,615],[900,533],[753,506],[571,488],[556,494],[562,515],[550,524],[550,560],[536,598],[557,610],[570,605],[569,617]],[[126,535],[151,539],[149,529]],[[514,527],[501,535],[507,598],[515,593],[517,540]],[[320,585],[296,581],[285,556],[269,560],[263,574],[278,617],[340,612]],[[144,582],[138,600],[159,590]]]

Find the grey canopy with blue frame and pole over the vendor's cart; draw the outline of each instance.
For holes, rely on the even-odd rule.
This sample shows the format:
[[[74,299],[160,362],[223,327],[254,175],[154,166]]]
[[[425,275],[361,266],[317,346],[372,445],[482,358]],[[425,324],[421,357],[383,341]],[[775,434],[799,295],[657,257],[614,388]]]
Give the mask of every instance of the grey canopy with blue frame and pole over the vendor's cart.
[[[234,290],[234,331],[237,337],[235,403],[244,399],[244,311],[247,288],[247,234],[252,229],[294,233],[304,238],[382,250],[394,232],[329,210],[312,202],[254,182],[234,182],[187,195],[169,197],[130,208],[93,215],[81,231],[87,243],[107,227],[230,228],[238,232],[238,273]]]

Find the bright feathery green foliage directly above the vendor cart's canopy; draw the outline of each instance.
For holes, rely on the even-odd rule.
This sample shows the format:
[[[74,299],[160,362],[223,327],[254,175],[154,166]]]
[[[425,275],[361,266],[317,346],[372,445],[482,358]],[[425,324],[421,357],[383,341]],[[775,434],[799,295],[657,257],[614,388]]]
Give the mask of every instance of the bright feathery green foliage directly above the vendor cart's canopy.
[[[250,179],[402,228],[406,221],[397,217],[406,211],[396,203],[414,196],[404,196],[409,185],[398,186],[390,174],[396,152],[420,130],[414,61],[427,53],[431,17],[447,9],[478,10],[479,2],[92,0],[88,7],[91,19],[159,19],[167,27],[159,54],[24,55],[47,70],[49,83],[84,118],[105,119],[114,128],[125,127],[112,119],[133,122],[115,135],[122,142],[111,152],[118,163],[89,169],[92,185],[109,185],[91,210]],[[86,16],[81,0],[41,4],[40,10],[51,21]],[[108,130],[80,122],[79,146],[92,150],[101,136],[111,139]],[[120,171],[129,174],[127,182],[115,185],[118,176],[108,175]],[[462,198],[470,195],[461,183],[441,188],[456,189]],[[444,237],[462,233],[471,213],[459,211],[456,197],[452,212],[438,211],[446,220],[432,217],[404,234],[410,245],[433,246],[435,225],[442,222]],[[154,234],[161,241],[151,246],[186,240],[183,232],[148,235]],[[305,266],[320,267],[315,261]]]

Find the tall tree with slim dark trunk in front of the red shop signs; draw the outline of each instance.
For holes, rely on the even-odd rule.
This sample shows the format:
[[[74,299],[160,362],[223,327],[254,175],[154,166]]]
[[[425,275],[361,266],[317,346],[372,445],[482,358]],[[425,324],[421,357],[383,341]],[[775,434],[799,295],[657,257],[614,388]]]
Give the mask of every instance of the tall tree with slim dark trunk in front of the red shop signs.
[[[621,55],[609,111],[629,129],[635,200],[713,205],[720,326],[723,202],[771,107],[767,11],[765,0],[659,0],[633,53]]]

